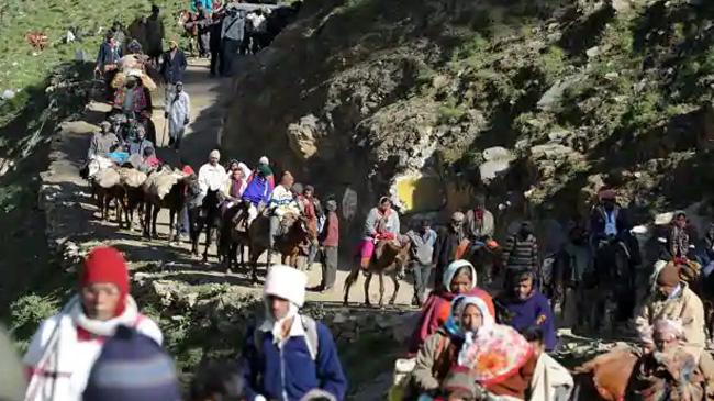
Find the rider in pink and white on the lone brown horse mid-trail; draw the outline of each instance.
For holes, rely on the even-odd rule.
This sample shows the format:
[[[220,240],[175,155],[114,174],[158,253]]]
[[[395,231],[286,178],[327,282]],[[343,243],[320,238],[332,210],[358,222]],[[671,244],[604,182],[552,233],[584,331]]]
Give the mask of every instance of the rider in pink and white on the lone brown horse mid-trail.
[[[379,242],[400,238],[399,229],[399,214],[392,209],[392,201],[389,197],[381,197],[378,205],[369,211],[365,221],[365,236],[359,249],[359,265],[362,270],[369,269]]]

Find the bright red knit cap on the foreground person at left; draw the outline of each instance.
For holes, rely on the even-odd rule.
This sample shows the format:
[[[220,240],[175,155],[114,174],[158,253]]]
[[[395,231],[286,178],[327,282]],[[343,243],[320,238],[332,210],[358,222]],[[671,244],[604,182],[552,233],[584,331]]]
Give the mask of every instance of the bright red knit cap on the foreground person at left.
[[[116,315],[124,312],[126,294],[129,294],[129,270],[121,252],[111,246],[93,248],[85,259],[85,268],[79,277],[79,285],[86,287],[93,283],[112,283],[119,288],[120,301]]]

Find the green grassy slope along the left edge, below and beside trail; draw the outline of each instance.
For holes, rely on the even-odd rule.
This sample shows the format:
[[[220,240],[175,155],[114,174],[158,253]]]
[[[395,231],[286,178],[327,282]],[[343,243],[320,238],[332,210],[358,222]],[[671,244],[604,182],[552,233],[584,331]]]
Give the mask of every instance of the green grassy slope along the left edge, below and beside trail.
[[[169,35],[177,34],[177,26],[168,13],[182,3],[157,1],[167,12]],[[20,339],[32,334],[36,322],[53,312],[71,286],[46,247],[44,216],[37,210],[38,174],[47,168],[56,125],[81,111],[85,98],[60,90],[53,94],[57,104],[51,111],[45,88],[53,75],[63,80],[90,79],[91,64],[75,63],[75,53],[85,51],[93,59],[102,41],[100,26],[114,20],[129,25],[149,9],[150,2],[143,0],[7,0],[0,4],[0,91],[20,89],[11,101],[0,101],[0,158],[15,163],[12,171],[0,177],[0,319],[19,328]],[[76,26],[83,37],[64,44],[69,26]],[[49,36],[49,46],[42,52],[33,51],[24,40],[34,30]],[[12,302],[16,304],[11,307]]]

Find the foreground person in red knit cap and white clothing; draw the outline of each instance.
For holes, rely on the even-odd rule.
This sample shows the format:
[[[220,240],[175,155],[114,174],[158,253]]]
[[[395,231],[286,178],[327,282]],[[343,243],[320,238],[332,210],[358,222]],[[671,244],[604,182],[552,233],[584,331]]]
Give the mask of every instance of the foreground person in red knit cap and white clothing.
[[[138,312],[129,294],[129,270],[122,254],[101,246],[85,259],[79,293],[45,320],[32,337],[24,364],[27,401],[81,401],[90,369],[107,338],[120,325],[161,344],[161,332]]]

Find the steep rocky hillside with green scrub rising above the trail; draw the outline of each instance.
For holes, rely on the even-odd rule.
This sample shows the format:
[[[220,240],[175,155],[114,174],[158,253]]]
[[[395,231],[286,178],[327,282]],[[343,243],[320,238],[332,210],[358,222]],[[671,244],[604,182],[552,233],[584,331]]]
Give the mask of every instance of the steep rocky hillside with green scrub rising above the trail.
[[[644,221],[710,194],[713,20],[694,0],[306,1],[236,82],[223,144],[362,210],[486,188],[565,220],[606,183]]]

